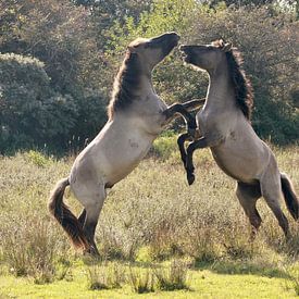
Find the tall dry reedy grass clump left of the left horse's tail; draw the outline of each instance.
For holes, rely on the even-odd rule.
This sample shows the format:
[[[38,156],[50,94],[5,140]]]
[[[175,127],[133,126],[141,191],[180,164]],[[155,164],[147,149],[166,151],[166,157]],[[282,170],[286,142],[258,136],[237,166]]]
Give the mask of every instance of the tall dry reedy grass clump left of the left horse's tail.
[[[15,276],[33,276],[35,283],[50,283],[55,277],[58,240],[45,219],[15,219],[1,231],[4,261]]]

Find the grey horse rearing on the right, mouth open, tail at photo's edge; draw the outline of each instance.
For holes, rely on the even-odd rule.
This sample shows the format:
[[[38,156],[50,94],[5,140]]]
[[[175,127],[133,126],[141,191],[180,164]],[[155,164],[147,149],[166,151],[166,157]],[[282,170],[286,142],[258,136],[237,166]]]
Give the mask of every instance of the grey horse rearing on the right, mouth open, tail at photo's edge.
[[[241,68],[239,51],[223,40],[207,46],[180,46],[180,50],[185,62],[207,71],[210,79],[207,101],[196,116],[200,138],[188,146],[187,153],[184,141],[189,134],[178,138],[189,185],[195,180],[194,151],[209,147],[217,165],[237,180],[237,198],[252,225],[251,236],[261,225],[256,203],[263,196],[288,237],[288,221],[279,199],[283,195],[290,214],[298,220],[298,197],[289,178],[279,172],[273,152],[250,124],[253,95]]]

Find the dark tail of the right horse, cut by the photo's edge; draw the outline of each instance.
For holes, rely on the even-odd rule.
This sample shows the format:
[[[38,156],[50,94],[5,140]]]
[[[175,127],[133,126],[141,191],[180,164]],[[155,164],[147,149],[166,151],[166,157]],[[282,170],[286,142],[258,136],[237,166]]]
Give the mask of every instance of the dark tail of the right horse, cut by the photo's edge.
[[[285,197],[286,205],[290,214],[295,220],[298,220],[299,217],[299,200],[297,195],[295,194],[295,189],[292,187],[292,184],[289,179],[289,177],[282,173],[281,174],[281,180],[282,180],[282,189]]]

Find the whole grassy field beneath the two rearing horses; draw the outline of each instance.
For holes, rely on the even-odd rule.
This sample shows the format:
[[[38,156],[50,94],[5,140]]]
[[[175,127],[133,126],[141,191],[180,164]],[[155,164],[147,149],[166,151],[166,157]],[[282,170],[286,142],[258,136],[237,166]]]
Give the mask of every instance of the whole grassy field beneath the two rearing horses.
[[[74,252],[47,211],[49,191],[73,158],[0,158],[0,298],[295,298],[298,224],[286,211],[292,238],[285,242],[260,200],[263,223],[250,244],[234,180],[202,150],[188,187],[166,141],[166,149],[165,140],[155,146],[159,159],[142,161],[109,192],[97,229],[101,261]],[[274,151],[299,192],[299,147]]]

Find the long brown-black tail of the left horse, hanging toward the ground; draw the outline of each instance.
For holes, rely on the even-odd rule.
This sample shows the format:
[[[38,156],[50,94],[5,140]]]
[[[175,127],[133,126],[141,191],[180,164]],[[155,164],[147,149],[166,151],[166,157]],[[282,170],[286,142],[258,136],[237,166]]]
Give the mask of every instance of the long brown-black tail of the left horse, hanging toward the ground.
[[[85,237],[80,223],[77,217],[71,212],[68,207],[63,202],[63,194],[66,186],[70,185],[68,178],[63,178],[58,182],[54,189],[51,191],[48,208],[50,213],[60,223],[67,236],[71,238],[76,248],[88,249],[88,241]]]

